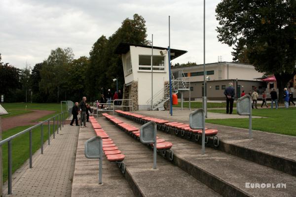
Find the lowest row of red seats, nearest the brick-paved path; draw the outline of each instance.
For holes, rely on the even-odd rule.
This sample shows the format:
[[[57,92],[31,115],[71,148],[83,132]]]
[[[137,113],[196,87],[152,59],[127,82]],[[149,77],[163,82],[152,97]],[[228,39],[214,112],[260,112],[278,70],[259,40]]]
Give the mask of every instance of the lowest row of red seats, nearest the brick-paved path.
[[[100,136],[103,140],[103,151],[109,162],[121,163],[124,160],[124,155],[118,150],[118,147],[113,143],[108,133],[102,128],[98,121],[90,116],[89,121],[93,126],[97,136]]]

